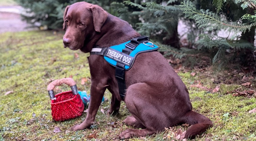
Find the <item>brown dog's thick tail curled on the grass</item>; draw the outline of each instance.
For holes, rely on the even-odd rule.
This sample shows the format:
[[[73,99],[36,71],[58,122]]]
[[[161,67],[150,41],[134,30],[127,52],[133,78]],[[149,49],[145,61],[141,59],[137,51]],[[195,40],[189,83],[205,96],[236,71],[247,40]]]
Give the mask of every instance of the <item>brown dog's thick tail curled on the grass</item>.
[[[212,127],[212,121],[209,118],[194,111],[189,111],[185,117],[185,122],[192,125],[186,130],[185,138],[194,138]]]

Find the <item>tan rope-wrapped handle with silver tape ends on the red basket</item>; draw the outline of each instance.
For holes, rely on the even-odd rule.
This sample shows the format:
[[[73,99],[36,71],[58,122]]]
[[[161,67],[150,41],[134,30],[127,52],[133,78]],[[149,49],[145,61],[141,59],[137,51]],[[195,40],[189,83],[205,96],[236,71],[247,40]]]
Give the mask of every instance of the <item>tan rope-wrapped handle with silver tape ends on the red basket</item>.
[[[48,90],[48,94],[50,96],[50,99],[52,100],[56,100],[56,97],[54,95],[54,92],[53,92],[53,89],[55,86],[60,86],[62,84],[66,84],[66,85],[69,85],[71,90],[72,90],[72,93],[74,95],[77,95],[78,94],[78,90],[77,90],[77,86],[76,86],[76,82],[72,79],[72,78],[62,78],[62,79],[57,79],[57,80],[54,80],[52,81],[48,87],[47,87],[47,90]]]

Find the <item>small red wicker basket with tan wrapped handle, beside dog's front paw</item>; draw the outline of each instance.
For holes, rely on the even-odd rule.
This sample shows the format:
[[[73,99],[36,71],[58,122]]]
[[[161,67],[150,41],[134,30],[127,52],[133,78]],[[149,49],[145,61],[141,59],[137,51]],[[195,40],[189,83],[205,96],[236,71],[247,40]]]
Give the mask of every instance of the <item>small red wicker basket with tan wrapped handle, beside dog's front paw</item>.
[[[67,84],[71,91],[61,92],[54,96],[55,86]],[[63,78],[52,81],[47,87],[51,98],[52,119],[55,121],[65,121],[82,115],[84,104],[77,91],[77,86],[72,78]]]

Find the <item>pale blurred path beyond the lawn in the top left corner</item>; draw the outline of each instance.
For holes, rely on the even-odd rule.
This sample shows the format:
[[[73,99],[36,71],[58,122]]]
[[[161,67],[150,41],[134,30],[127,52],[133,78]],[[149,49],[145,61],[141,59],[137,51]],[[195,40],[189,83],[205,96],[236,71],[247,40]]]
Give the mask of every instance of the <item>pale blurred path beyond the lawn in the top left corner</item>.
[[[0,6],[0,33],[33,30],[27,28],[29,24],[22,21],[22,10],[21,6]]]

